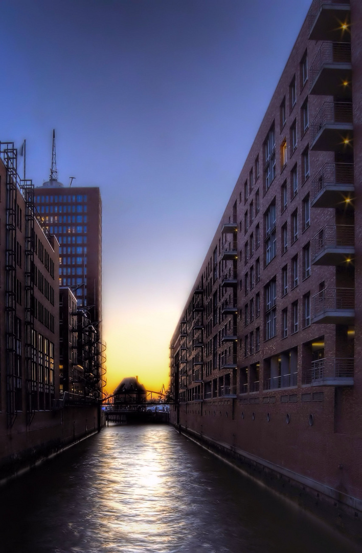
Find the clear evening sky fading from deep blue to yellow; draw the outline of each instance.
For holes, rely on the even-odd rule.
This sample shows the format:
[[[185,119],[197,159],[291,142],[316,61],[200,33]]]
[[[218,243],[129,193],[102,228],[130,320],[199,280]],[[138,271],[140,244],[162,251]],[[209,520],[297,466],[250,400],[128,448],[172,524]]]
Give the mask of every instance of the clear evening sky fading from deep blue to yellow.
[[[99,186],[107,390],[168,346],[310,0],[2,0],[0,141]],[[19,172],[22,171],[19,166]]]

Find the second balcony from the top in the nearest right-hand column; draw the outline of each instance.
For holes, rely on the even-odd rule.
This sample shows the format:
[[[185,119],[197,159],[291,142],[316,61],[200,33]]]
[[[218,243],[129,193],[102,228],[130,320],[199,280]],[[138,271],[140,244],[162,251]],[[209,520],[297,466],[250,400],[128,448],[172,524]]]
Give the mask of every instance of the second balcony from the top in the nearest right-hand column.
[[[310,67],[310,94],[352,97],[350,43],[323,42]]]

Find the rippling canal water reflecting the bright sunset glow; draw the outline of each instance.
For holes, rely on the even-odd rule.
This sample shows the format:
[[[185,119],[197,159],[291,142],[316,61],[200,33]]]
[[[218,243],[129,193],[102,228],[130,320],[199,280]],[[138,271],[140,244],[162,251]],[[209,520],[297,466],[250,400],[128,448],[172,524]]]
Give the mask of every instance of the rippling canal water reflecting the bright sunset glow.
[[[350,553],[171,426],[110,426],[0,489],[6,553]]]

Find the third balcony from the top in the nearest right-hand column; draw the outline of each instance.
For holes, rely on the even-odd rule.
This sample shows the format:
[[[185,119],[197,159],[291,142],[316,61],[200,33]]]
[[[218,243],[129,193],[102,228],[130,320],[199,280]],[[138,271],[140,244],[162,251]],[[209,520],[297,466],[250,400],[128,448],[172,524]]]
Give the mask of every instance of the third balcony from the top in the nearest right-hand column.
[[[311,150],[343,152],[353,139],[352,103],[324,102],[311,124]]]

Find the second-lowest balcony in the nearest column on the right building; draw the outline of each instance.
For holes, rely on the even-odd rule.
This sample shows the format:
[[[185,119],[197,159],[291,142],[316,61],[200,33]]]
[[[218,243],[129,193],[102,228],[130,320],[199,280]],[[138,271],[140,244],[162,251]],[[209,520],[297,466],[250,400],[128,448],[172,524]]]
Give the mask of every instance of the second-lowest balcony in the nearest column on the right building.
[[[312,301],[313,323],[354,324],[354,288],[324,288]]]

